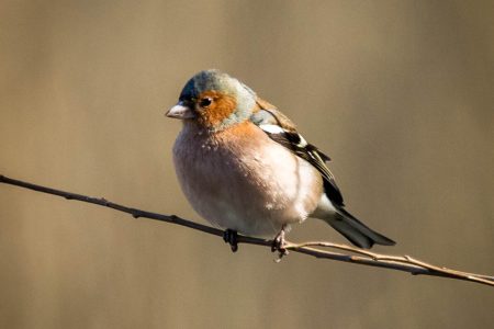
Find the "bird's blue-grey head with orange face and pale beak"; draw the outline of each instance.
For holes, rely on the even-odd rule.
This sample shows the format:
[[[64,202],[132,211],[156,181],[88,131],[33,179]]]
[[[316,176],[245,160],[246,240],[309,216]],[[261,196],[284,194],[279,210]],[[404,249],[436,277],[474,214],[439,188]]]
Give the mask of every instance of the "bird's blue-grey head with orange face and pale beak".
[[[186,83],[167,116],[217,132],[248,120],[255,107],[256,93],[250,88],[227,73],[204,70]]]

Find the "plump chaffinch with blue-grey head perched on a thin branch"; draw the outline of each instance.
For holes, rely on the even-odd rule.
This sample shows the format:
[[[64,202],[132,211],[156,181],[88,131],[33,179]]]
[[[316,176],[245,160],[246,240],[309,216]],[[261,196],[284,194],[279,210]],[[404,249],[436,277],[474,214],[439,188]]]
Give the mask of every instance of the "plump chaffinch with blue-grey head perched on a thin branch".
[[[181,190],[199,215],[225,230],[233,251],[242,234],[272,238],[281,252],[291,225],[307,218],[359,248],[395,245],[346,209],[329,156],[238,79],[202,70],[166,115],[182,121],[172,148]]]

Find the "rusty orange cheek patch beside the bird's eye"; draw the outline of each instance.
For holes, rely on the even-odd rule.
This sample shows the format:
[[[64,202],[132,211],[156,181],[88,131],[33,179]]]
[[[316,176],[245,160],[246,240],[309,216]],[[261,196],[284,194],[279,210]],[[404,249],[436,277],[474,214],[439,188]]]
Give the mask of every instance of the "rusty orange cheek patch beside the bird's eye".
[[[200,111],[201,121],[206,126],[215,126],[227,118],[237,107],[235,99],[217,91],[206,91],[199,99],[212,98],[213,102],[206,109]]]

